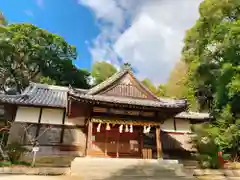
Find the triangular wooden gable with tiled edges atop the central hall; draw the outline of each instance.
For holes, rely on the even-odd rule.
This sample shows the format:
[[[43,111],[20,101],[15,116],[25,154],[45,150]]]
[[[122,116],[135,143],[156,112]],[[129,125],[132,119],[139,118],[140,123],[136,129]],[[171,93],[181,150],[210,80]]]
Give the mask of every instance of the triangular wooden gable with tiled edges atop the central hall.
[[[129,69],[113,75],[103,83],[92,88],[89,92],[91,91],[94,92],[92,93],[94,95],[120,96],[158,101],[156,96],[142,85]]]

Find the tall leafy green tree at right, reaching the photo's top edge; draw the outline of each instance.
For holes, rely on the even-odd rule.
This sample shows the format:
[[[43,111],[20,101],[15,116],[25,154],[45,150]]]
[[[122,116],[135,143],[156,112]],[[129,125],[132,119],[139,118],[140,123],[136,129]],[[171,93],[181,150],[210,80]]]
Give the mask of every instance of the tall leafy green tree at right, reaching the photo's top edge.
[[[231,81],[239,74],[239,8],[238,0],[205,0],[200,18],[185,38],[183,55],[190,67],[190,81],[201,98],[215,96],[218,112],[239,98],[237,92],[234,99],[228,96]]]

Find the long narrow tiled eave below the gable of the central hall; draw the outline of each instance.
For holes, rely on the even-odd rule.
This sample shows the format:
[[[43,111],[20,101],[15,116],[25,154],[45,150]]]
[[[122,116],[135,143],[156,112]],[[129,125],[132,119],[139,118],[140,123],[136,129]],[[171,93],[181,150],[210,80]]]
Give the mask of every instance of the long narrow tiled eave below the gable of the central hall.
[[[76,92],[69,92],[69,95],[82,100],[93,100],[99,102],[116,103],[116,104],[129,104],[148,107],[166,107],[166,108],[186,108],[187,102],[185,100],[174,100],[171,102],[155,101],[149,99],[134,99],[127,97],[117,96],[104,96],[104,95],[90,95]]]

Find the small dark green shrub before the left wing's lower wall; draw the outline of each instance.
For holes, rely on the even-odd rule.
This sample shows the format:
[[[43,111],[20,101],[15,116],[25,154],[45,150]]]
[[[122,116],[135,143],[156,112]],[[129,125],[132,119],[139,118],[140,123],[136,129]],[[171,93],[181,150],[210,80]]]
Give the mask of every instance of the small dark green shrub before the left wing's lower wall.
[[[25,147],[23,147],[21,144],[17,142],[13,142],[6,146],[5,152],[8,154],[8,157],[11,163],[14,164],[19,162],[21,155],[23,153],[28,152],[28,149],[26,149]]]

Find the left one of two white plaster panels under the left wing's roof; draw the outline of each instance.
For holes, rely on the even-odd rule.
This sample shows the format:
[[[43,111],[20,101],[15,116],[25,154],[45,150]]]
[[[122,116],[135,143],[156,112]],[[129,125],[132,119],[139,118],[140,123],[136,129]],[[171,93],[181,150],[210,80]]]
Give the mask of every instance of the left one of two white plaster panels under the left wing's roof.
[[[28,123],[38,123],[38,118],[40,114],[40,108],[34,107],[18,107],[15,121],[16,122],[28,122]]]

